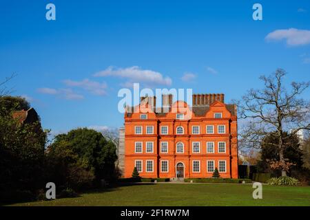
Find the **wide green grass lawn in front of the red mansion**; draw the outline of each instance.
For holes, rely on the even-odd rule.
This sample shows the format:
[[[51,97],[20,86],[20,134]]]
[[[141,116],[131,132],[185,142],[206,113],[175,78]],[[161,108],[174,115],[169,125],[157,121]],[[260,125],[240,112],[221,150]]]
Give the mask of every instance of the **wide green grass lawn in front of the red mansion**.
[[[253,190],[251,184],[139,184],[13,206],[310,206],[309,186],[263,185],[262,199],[253,199]]]

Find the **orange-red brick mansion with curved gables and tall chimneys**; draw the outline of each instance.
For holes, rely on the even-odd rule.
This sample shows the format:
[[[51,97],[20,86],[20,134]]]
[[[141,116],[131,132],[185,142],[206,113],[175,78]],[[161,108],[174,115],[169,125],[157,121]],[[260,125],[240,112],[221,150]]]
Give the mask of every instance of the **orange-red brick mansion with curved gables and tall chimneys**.
[[[163,96],[165,108],[154,102],[125,113],[125,177],[138,166],[141,177],[211,177],[218,168],[221,177],[238,178],[236,106],[223,94],[193,95],[192,107],[171,95]]]

